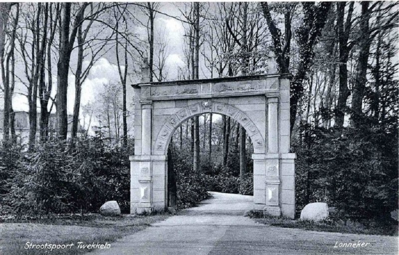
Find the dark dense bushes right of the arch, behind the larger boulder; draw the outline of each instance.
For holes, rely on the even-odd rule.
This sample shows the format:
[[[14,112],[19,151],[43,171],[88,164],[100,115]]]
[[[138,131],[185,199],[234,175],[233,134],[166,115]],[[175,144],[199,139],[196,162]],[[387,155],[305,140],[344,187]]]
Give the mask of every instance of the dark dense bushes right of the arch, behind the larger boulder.
[[[398,208],[398,128],[303,125],[294,144],[296,201],[336,207],[342,218],[389,220]]]

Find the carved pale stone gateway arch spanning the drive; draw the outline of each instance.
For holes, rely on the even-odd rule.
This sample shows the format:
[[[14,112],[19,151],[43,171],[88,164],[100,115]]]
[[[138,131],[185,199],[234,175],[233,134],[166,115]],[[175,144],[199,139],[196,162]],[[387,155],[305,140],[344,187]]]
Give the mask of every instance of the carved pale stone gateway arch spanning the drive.
[[[254,145],[254,206],[294,218],[295,153],[289,153],[289,75],[269,74],[176,82],[135,89],[135,155],[131,213],[167,206],[167,149],[176,128],[193,116],[217,113],[238,121]]]

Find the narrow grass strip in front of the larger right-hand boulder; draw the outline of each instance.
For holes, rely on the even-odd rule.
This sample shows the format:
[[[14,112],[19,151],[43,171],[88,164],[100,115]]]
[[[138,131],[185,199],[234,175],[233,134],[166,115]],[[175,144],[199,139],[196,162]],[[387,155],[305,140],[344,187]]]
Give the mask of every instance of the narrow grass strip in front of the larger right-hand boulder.
[[[364,234],[364,235],[385,235],[398,236],[398,225],[395,224],[381,224],[377,222],[368,222],[368,224],[326,219],[320,222],[291,220],[285,217],[274,217],[270,215],[263,215],[263,213],[254,212],[250,215],[255,222],[291,229],[313,230],[320,232],[337,232],[346,234]]]

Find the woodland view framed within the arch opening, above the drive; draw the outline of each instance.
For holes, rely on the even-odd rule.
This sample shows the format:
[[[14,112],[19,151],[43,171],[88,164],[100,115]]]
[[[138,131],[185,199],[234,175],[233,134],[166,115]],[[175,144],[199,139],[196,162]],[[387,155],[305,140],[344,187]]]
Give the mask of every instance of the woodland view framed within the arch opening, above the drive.
[[[167,154],[167,206],[193,206],[207,198],[210,191],[245,195],[239,197],[241,210],[252,209],[254,148],[247,130],[223,114],[204,112],[197,116],[199,144],[195,141],[194,117],[182,122],[171,135]],[[200,162],[196,170],[194,150],[198,148]],[[247,202],[248,208],[243,208],[243,202]]]

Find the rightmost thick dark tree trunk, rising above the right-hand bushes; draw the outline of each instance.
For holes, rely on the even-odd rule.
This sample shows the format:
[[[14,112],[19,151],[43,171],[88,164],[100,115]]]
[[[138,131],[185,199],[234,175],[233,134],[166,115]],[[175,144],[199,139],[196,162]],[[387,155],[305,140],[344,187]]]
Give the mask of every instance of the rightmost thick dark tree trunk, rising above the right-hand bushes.
[[[356,68],[356,76],[353,86],[353,96],[352,96],[352,116],[351,121],[355,128],[359,127],[361,124],[362,116],[362,103],[366,91],[367,83],[367,66],[369,61],[370,52],[370,34],[369,34],[369,2],[362,1],[362,15],[360,21],[360,52],[358,65]]]

